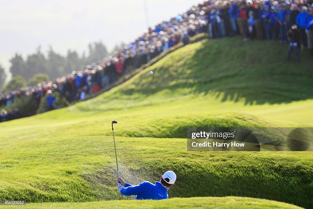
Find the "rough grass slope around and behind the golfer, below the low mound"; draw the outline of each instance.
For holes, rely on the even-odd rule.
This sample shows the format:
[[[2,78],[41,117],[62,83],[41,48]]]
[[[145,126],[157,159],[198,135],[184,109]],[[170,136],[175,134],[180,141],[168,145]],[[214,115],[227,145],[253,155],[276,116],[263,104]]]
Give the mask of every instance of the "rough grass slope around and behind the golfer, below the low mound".
[[[0,199],[125,199],[115,188],[112,136],[76,131],[37,131],[3,142]],[[177,173],[170,197],[233,195],[312,204],[312,152],[187,152],[186,139],[178,138],[116,137],[116,142],[127,182],[154,182],[163,170]]]

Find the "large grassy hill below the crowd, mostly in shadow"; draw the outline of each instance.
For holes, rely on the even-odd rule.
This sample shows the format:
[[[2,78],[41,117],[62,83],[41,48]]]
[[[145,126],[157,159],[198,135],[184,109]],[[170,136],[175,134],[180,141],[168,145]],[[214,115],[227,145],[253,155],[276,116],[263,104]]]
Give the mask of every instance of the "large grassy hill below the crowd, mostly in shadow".
[[[97,99],[104,104],[113,99],[140,101],[214,92],[223,100],[243,98],[245,104],[312,99],[309,53],[300,64],[285,62],[287,47],[274,41],[242,42],[239,37],[205,39],[174,51]]]

